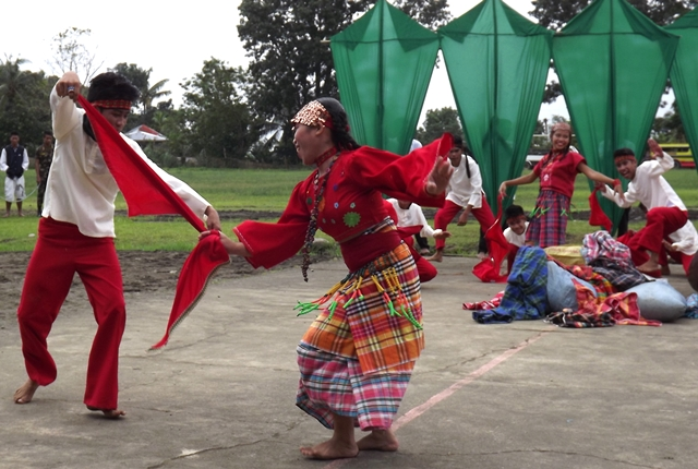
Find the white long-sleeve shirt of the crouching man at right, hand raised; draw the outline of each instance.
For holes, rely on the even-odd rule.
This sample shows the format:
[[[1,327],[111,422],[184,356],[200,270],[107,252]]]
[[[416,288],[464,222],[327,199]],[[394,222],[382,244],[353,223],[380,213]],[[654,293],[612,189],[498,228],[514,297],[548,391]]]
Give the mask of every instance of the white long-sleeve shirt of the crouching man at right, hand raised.
[[[621,200],[621,196],[607,185],[604,185],[601,194],[623,208],[640,202],[648,211],[655,207],[678,207],[685,211],[686,205],[662,176],[673,167],[674,158],[664,153],[663,158],[638,165],[635,178],[628,184],[628,190],[625,193],[625,201]]]

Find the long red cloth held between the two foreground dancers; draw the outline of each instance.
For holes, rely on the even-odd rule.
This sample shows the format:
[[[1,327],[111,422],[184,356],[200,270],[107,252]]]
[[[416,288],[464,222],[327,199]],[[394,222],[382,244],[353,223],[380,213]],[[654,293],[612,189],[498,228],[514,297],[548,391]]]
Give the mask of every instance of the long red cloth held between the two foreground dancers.
[[[119,132],[85,98],[77,96],[95,132],[97,145],[129,206],[129,216],[182,215],[197,231],[204,231],[203,221],[160,179],[145,160],[131,148]],[[217,267],[230,262],[220,236],[204,238],[191,252],[177,281],[174,301],[165,336],[152,349],[165,347],[174,327],[201,299],[208,279]]]

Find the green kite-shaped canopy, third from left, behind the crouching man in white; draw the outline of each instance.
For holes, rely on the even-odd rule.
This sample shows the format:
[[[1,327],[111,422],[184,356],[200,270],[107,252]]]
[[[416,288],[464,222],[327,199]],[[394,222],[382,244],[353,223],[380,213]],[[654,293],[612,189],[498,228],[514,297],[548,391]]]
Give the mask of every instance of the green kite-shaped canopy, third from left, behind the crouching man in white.
[[[593,169],[615,178],[621,147],[642,158],[677,43],[626,0],[595,0],[553,38],[571,124]],[[622,209],[601,203],[615,230]]]

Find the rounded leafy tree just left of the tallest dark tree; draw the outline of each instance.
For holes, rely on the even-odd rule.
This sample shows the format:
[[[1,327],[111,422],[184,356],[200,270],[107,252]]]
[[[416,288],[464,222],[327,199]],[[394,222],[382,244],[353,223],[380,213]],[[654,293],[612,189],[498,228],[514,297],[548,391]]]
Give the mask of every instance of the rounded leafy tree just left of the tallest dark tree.
[[[233,166],[257,141],[250,109],[241,98],[245,81],[241,68],[210,58],[201,73],[182,83],[184,135],[204,164]]]

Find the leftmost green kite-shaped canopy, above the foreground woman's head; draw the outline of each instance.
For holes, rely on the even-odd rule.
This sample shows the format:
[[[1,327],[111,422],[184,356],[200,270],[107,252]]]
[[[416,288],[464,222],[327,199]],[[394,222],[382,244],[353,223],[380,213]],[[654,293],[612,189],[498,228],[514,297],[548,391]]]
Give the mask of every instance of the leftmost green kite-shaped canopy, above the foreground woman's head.
[[[332,37],[341,103],[351,133],[364,145],[405,154],[438,52],[438,36],[378,0]]]

